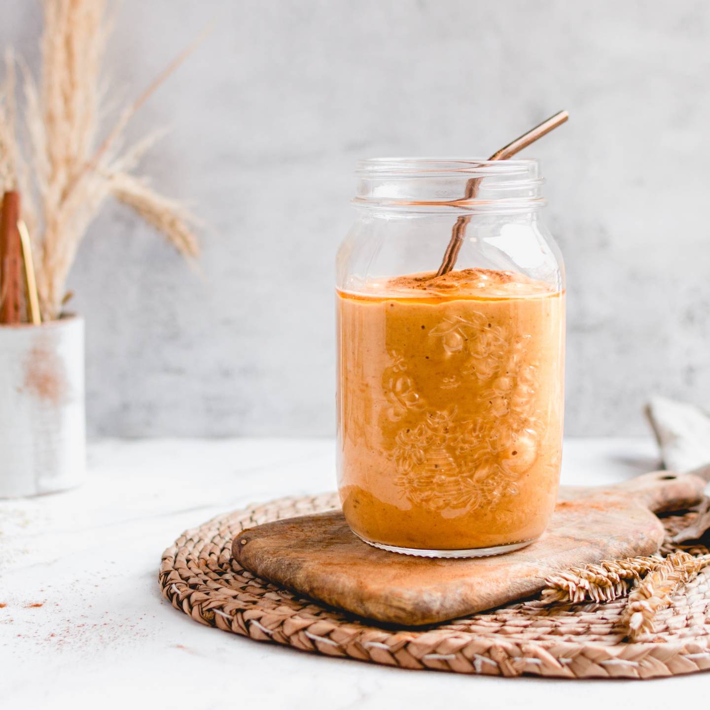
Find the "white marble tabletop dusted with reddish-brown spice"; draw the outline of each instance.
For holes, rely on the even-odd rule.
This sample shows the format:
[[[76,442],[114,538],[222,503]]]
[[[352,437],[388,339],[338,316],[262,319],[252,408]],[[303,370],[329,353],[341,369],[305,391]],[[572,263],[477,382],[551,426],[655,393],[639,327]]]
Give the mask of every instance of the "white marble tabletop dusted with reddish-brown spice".
[[[547,710],[574,697],[598,710],[612,693],[654,708],[710,690],[710,674],[569,682],[378,667],[206,628],[160,596],[160,553],[182,530],[331,489],[333,461],[329,439],[105,440],[89,449],[84,487],[0,501],[0,706]],[[656,464],[648,439],[573,439],[562,478],[605,484]]]

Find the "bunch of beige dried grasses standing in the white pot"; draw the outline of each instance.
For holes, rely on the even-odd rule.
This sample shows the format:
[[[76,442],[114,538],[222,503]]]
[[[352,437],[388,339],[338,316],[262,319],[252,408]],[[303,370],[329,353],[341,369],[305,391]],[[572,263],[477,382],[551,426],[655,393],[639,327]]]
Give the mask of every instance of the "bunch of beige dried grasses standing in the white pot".
[[[107,4],[105,0],[44,0],[43,6],[39,82],[21,65],[22,135],[16,120],[16,62],[6,58],[6,79],[0,88],[0,185],[22,194],[23,218],[35,251],[40,308],[47,320],[60,314],[77,249],[107,197],[131,207],[184,256],[196,257],[199,246],[195,219],[185,207],[132,172],[155,136],[120,152],[133,114],[195,45],[120,111],[111,129],[102,131],[100,74],[109,27]]]

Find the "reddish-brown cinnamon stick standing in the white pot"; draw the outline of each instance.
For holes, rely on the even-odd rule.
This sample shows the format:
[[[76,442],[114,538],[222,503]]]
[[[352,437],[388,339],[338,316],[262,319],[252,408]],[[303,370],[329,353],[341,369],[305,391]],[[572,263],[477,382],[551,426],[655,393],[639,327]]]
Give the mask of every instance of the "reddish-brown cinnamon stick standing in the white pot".
[[[22,246],[17,222],[20,219],[20,193],[8,190],[3,195],[0,214],[0,323],[21,320]]]

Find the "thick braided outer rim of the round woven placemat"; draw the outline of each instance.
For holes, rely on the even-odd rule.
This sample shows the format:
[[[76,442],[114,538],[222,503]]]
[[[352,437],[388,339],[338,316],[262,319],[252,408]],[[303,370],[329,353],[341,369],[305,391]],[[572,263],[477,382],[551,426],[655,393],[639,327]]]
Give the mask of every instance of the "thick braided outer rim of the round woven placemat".
[[[185,531],[163,552],[159,574],[163,596],[176,609],[204,626],[306,652],[411,670],[503,677],[526,674],[571,679],[646,679],[710,670],[708,635],[670,643],[603,645],[593,642],[493,640],[446,628],[414,634],[406,629],[388,630],[356,621],[340,621],[339,618],[318,618],[308,611],[294,613],[287,606],[260,608],[258,603],[253,603],[254,596],[251,594],[244,595],[215,581],[204,584],[197,575],[185,581],[178,572],[176,564],[183,564],[185,567],[182,569],[187,569],[184,555],[180,557],[185,543],[193,540],[212,544],[216,537],[220,537],[217,531],[226,520],[232,526],[241,525],[239,529],[243,530],[266,519],[277,519],[282,508],[293,511],[294,506],[302,507],[305,513],[332,510],[337,508],[335,501],[337,498],[332,493],[278,498],[229,515],[219,515],[200,528]],[[203,537],[205,530],[214,532],[209,540]],[[229,550],[230,542],[223,541],[222,554],[225,548]],[[253,579],[257,580],[255,586],[258,586],[258,578]],[[250,608],[244,608],[245,601],[240,599],[243,596],[249,597]],[[308,601],[305,600],[305,603]],[[326,609],[315,602],[309,603],[308,608],[314,611]]]

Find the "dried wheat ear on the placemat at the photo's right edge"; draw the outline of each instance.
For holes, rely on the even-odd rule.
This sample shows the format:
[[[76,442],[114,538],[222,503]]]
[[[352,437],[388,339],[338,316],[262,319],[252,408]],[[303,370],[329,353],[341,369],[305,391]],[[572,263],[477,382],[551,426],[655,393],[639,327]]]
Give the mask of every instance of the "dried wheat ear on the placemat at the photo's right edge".
[[[710,564],[710,555],[693,557],[687,552],[672,552],[631,591],[621,622],[629,640],[652,632],[657,611],[670,606],[673,595],[698,572]]]

